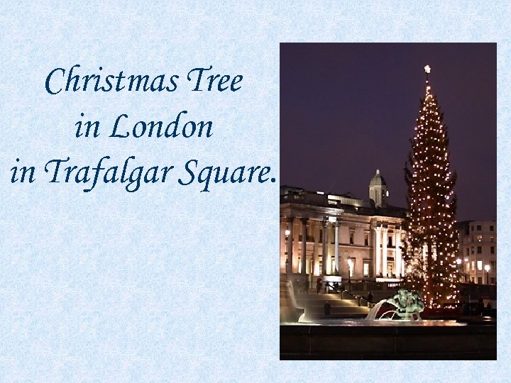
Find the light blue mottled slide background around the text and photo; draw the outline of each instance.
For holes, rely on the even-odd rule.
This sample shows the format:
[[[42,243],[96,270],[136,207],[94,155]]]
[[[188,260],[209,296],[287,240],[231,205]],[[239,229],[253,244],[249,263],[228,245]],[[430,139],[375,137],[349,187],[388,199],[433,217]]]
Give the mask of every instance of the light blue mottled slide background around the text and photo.
[[[1,3],[0,381],[381,382],[410,368],[414,382],[506,379],[510,6],[359,3]],[[95,165],[102,155],[146,166],[270,165],[278,179],[279,43],[305,41],[498,43],[498,362],[280,362],[278,182],[209,194],[176,182],[84,194],[48,174],[9,182],[16,157],[41,172],[52,158]],[[181,80],[213,65],[243,74],[243,88],[45,93],[50,70],[76,63],[83,73],[101,65]],[[81,112],[109,126],[121,113],[165,119],[182,109],[214,121],[213,137],[74,138]]]

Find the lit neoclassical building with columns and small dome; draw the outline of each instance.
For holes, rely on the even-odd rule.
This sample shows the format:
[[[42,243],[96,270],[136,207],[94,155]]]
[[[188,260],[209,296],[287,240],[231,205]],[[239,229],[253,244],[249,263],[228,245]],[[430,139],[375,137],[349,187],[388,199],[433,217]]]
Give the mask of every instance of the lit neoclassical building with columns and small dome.
[[[280,272],[309,280],[400,279],[406,209],[388,205],[388,195],[379,170],[370,180],[369,200],[280,187]]]

